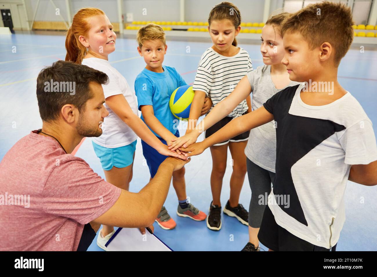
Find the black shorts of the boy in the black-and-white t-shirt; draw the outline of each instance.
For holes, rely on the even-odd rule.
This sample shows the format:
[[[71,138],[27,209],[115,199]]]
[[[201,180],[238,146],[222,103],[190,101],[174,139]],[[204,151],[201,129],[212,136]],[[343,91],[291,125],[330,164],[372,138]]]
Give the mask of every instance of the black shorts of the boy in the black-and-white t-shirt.
[[[277,225],[268,205],[263,213],[258,239],[273,251],[329,251],[327,248],[300,239]],[[332,247],[331,251],[336,251],[335,249],[336,245]]]

